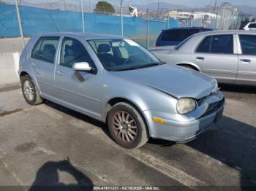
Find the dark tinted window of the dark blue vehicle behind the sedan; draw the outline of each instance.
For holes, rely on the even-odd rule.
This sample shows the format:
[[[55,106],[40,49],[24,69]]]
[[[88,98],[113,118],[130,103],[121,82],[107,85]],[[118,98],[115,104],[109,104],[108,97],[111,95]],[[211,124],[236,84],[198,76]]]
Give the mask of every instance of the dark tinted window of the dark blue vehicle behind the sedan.
[[[183,41],[187,37],[198,33],[198,29],[173,29],[168,31],[163,31],[161,36],[162,41]]]

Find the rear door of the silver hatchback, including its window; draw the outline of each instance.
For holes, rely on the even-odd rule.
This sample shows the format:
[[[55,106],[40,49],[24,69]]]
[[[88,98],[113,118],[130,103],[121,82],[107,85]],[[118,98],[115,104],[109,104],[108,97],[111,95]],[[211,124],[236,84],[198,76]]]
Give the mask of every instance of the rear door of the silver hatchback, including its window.
[[[31,52],[31,68],[42,94],[50,95],[54,91],[54,69],[59,36],[43,36],[37,40]]]

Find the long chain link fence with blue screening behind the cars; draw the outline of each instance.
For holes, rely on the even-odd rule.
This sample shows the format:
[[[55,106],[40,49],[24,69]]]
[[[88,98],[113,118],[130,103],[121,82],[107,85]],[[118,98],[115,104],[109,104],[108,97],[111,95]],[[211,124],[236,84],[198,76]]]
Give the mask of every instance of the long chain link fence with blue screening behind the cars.
[[[148,10],[139,17],[129,15],[128,7],[124,9],[125,15],[121,15],[121,6],[115,7],[115,12],[94,12],[94,9],[91,0],[0,0],[0,39],[86,31],[123,34],[151,47],[162,29],[192,26],[239,29],[246,17],[230,4],[217,7],[215,17],[196,18],[181,17],[179,12],[178,17],[169,17],[168,9],[162,9],[160,15]]]

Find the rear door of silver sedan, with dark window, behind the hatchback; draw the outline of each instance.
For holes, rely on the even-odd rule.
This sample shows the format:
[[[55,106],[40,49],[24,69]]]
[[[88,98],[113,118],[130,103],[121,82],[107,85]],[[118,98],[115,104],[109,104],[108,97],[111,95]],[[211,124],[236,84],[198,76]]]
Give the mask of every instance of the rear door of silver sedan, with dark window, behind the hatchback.
[[[206,36],[196,47],[192,61],[203,73],[222,83],[235,83],[238,55],[233,34]]]

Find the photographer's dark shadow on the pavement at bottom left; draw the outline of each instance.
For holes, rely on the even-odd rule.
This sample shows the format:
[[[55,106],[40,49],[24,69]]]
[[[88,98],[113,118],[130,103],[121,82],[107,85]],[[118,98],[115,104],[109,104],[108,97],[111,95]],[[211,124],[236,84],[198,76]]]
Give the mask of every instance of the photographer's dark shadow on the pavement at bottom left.
[[[75,179],[76,184],[59,182],[59,171],[65,172]],[[37,171],[36,179],[29,191],[65,191],[65,190],[93,190],[94,184],[85,174],[75,168],[69,159],[61,161],[48,161]]]

